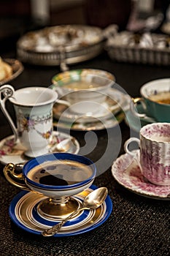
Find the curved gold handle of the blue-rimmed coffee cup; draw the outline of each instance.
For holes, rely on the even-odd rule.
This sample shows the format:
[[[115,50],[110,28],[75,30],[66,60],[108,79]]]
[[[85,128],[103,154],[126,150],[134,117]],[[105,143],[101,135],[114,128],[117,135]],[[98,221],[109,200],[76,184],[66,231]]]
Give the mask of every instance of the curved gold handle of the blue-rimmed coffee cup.
[[[12,163],[9,163],[5,165],[4,167],[4,176],[7,178],[7,181],[9,181],[10,184],[15,185],[16,187],[19,187],[20,189],[31,191],[29,187],[27,187],[24,178],[22,169],[21,172],[16,173],[15,165]]]

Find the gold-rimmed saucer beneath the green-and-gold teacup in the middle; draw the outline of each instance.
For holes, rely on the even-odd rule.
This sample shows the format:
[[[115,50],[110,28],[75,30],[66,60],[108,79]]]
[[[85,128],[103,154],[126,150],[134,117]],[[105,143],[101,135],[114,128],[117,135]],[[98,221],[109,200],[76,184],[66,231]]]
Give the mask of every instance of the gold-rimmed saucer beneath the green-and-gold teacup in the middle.
[[[128,108],[129,98],[117,89],[110,89],[101,109],[90,116],[76,115],[66,106],[56,103],[53,108],[53,125],[61,129],[81,131],[109,129],[123,121],[124,112]]]

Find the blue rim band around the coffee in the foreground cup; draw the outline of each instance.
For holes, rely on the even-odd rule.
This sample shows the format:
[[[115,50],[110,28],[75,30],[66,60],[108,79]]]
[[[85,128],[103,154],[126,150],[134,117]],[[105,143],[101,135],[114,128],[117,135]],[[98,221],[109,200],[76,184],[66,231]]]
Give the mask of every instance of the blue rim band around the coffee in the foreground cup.
[[[77,162],[81,162],[84,163],[85,165],[88,165],[91,167],[91,169],[93,170],[93,174],[87,178],[85,181],[80,181],[78,183],[75,184],[71,184],[71,185],[64,185],[64,186],[51,186],[51,185],[45,185],[45,184],[38,184],[32,181],[31,179],[29,179],[26,175],[28,173],[29,170],[31,170],[32,168],[36,167],[37,165],[40,165],[44,162],[47,161],[55,161],[55,160],[61,160],[61,159],[69,159],[72,161],[77,161]],[[23,166],[23,176],[26,179],[26,183],[27,184],[31,184],[33,187],[39,187],[41,189],[53,189],[53,190],[68,190],[68,189],[74,189],[74,188],[78,188],[78,187],[82,187],[85,184],[88,184],[90,181],[93,181],[93,179],[96,176],[96,165],[88,158],[88,157],[84,157],[78,154],[70,154],[70,153],[52,153],[52,154],[45,154],[39,157],[35,157],[34,159],[29,160],[28,162],[26,162],[26,164]]]

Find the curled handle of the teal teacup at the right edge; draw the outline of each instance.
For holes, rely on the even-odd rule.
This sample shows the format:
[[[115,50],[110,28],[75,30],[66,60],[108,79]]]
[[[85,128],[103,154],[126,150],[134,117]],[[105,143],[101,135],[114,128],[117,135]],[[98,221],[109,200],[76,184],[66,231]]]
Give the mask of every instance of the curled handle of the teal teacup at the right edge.
[[[144,120],[146,121],[149,121],[149,122],[155,122],[155,119],[150,117],[150,116],[147,116],[145,113],[138,113],[136,111],[136,105],[137,103],[141,103],[142,104],[142,107],[144,108],[144,110],[147,109],[147,106],[144,102],[144,99],[142,97],[139,97],[139,98],[132,98],[131,102],[130,102],[130,108],[131,108],[131,113],[134,114],[134,116],[137,116],[139,118],[144,118]]]

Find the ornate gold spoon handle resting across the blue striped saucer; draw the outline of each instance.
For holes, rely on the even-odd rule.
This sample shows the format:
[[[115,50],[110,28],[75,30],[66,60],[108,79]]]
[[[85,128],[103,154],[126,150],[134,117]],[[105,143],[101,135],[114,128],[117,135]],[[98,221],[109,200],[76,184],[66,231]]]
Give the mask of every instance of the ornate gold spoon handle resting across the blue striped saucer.
[[[61,229],[61,227],[63,227],[63,225],[69,220],[72,219],[72,217],[77,214],[77,212],[82,211],[86,209],[85,207],[80,207],[78,208],[76,211],[74,211],[72,214],[70,214],[68,217],[66,217],[66,219],[63,219],[61,222],[59,222],[58,224],[54,225],[53,227],[48,228],[47,230],[44,230],[42,232],[42,236],[53,236],[56,233],[58,233],[58,231]]]

